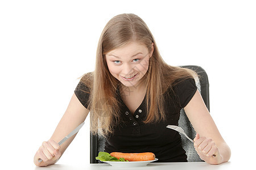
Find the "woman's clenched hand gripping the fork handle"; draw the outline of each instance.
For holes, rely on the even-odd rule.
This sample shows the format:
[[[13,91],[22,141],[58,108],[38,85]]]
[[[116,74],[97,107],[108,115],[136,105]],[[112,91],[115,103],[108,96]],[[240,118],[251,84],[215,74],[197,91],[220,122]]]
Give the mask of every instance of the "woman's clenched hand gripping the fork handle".
[[[222,161],[222,156],[218,151],[216,143],[207,137],[200,137],[196,134],[194,139],[194,147],[200,158],[209,164],[219,164]]]

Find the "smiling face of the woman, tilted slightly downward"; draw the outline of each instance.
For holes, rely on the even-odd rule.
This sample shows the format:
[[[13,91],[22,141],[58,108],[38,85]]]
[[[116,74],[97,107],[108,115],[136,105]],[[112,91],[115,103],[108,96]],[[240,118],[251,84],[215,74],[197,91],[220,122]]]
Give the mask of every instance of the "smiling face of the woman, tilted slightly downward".
[[[148,60],[151,52],[144,44],[131,41],[121,48],[106,53],[106,63],[110,73],[126,87],[136,87],[136,84],[147,73]]]

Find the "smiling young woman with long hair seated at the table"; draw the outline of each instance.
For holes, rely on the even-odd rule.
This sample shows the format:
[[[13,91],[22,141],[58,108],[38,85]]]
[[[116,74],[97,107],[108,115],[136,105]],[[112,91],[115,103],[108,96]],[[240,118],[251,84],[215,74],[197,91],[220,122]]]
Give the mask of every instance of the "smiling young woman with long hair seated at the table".
[[[177,125],[184,108],[197,135],[195,149],[210,164],[227,162],[230,149],[197,91],[195,73],[167,65],[147,25],[121,14],[105,26],[98,42],[96,69],[82,76],[51,139],[34,157],[38,166],[54,164],[72,142],[57,144],[90,112],[90,130],[106,137],[106,152],[153,152],[158,162],[187,162]],[[212,155],[216,155],[213,157]],[[41,158],[43,162],[38,162]]]

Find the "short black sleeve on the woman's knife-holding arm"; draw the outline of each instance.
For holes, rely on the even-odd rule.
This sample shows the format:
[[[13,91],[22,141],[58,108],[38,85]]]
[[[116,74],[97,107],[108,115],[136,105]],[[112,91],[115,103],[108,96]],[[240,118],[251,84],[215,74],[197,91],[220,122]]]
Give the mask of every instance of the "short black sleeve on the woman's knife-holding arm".
[[[77,97],[77,99],[79,99],[79,101],[81,102],[82,105],[84,105],[84,107],[86,109],[88,109],[88,100],[89,100],[89,96],[90,96],[90,89],[85,86],[84,83],[79,82],[79,84],[77,84],[76,90],[75,90],[75,95]]]

